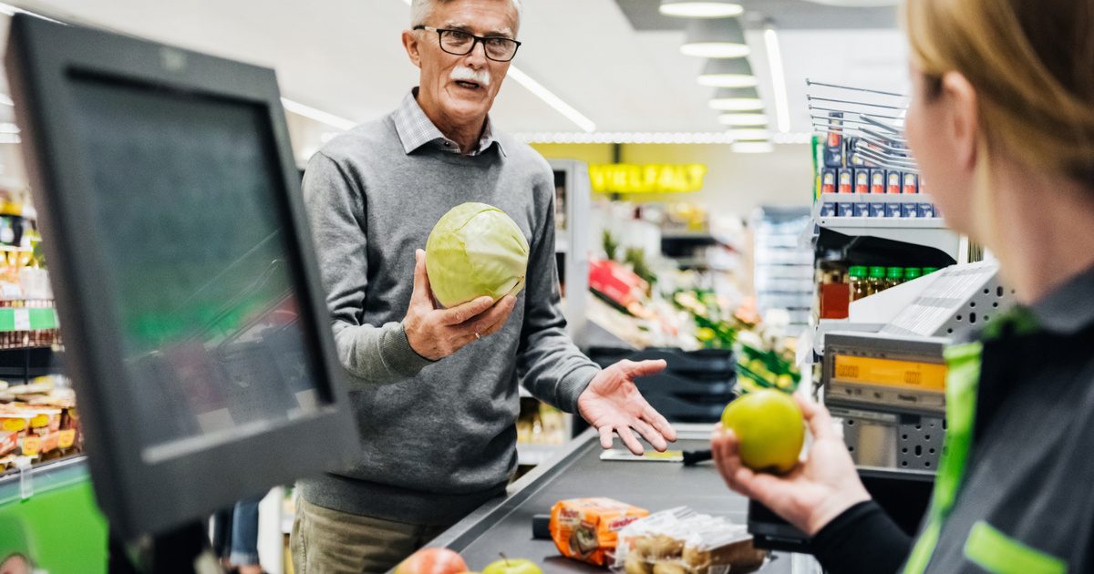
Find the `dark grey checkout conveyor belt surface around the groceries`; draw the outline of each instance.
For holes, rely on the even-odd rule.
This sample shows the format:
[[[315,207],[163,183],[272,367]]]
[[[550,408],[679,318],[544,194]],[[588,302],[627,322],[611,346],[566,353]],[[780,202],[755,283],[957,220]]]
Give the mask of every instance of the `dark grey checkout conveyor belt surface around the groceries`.
[[[673,450],[710,448],[710,425],[674,425],[679,440]],[[618,447],[619,441],[616,440]],[[685,467],[667,461],[606,461],[600,459],[600,438],[590,429],[550,460],[509,487],[508,496],[488,502],[428,546],[447,547],[474,570],[509,558],[539,564],[544,572],[600,572],[604,569],[562,558],[550,540],[532,537],[532,518],[550,513],[559,500],[590,496],[612,499],[659,512],[690,506],[745,524],[748,501],[725,485],[711,462]],[[761,574],[812,574],[819,566],[812,557],[775,553]]]

